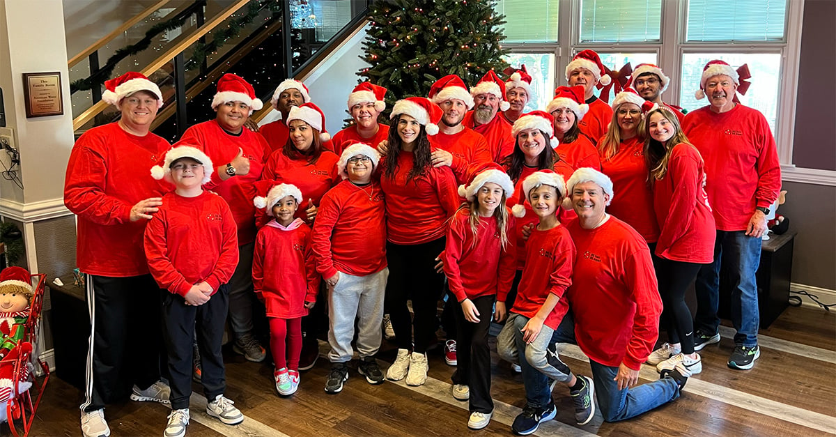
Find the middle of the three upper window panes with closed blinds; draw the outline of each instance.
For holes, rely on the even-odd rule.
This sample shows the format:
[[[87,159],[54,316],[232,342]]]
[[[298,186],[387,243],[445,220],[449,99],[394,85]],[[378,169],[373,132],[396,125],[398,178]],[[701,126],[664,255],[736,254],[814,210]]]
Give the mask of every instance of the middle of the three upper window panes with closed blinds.
[[[582,43],[659,41],[662,0],[581,0]]]

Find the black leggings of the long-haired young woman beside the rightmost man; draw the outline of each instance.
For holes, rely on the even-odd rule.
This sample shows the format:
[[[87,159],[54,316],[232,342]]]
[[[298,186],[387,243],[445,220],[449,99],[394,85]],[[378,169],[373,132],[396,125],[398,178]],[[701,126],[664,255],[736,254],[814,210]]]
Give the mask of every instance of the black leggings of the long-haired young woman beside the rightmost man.
[[[667,314],[668,342],[681,343],[682,353],[694,353],[694,322],[685,303],[685,292],[696,280],[701,264],[657,259],[656,278]]]

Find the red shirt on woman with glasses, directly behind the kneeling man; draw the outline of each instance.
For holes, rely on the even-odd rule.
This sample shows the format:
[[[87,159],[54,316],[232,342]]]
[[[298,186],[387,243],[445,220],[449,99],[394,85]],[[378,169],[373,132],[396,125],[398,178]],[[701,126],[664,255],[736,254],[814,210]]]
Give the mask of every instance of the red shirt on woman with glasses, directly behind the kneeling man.
[[[659,224],[653,209],[653,191],[647,183],[645,143],[637,137],[621,141],[619,152],[601,158],[601,172],[613,181],[613,199],[607,212],[639,231],[645,241],[659,239]]]

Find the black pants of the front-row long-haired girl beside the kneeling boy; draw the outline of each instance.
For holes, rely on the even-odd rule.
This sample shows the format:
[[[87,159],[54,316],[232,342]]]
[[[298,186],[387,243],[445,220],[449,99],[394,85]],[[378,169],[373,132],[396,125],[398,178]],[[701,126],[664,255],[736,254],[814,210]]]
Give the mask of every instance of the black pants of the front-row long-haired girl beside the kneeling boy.
[[[473,299],[479,311],[479,322],[465,319],[461,304],[454,299],[456,325],[459,337],[456,340],[458,365],[451,379],[453,383],[470,387],[470,412],[491,413],[491,350],[487,347],[487,332],[493,318],[493,302],[496,296],[481,296]]]

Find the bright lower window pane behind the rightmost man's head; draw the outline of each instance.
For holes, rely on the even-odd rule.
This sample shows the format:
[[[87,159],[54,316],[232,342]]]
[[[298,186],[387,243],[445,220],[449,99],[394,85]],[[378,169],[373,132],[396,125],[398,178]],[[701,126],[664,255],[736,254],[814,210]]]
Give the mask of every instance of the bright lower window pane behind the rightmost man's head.
[[[777,100],[780,91],[781,54],[779,53],[749,53],[749,54],[706,54],[686,53],[682,55],[682,82],[680,91],[680,105],[689,111],[708,105],[708,100],[696,100],[694,93],[700,89],[702,69],[711,59],[722,59],[737,68],[742,64],[749,65],[752,85],[746,95],[737,95],[743,105],[761,111],[767,117],[772,134],[775,135],[775,120],[777,118]]]

